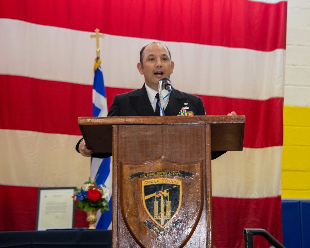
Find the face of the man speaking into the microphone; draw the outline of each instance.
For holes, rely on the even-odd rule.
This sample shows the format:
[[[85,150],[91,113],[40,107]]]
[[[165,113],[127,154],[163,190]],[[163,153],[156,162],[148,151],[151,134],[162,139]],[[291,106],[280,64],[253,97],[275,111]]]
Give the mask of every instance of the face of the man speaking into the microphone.
[[[144,75],[146,85],[157,91],[159,79],[170,78],[174,68],[166,47],[158,43],[148,45],[143,51],[142,61],[143,67],[138,63],[138,70]]]

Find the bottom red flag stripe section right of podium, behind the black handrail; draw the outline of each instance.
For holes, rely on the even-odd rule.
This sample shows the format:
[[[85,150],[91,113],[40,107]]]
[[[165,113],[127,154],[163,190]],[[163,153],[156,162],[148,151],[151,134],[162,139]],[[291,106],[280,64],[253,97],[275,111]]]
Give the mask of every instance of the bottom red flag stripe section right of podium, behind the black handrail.
[[[215,247],[231,247],[231,244],[243,247],[244,228],[263,228],[282,242],[281,196],[257,199],[212,197],[212,209]],[[263,237],[255,237],[255,247],[269,246]]]

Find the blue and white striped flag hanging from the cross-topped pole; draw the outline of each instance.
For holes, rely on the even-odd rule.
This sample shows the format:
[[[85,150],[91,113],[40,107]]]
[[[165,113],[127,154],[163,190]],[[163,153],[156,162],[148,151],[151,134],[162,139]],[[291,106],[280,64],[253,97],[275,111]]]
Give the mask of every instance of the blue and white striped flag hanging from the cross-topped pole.
[[[106,117],[108,115],[107,98],[104,89],[103,74],[100,66],[100,60],[95,63],[95,77],[93,85],[93,116]],[[91,179],[96,179],[96,184],[103,184],[110,190],[110,211],[97,212],[97,222],[95,223],[96,229],[112,229],[112,159],[108,158],[91,158]]]

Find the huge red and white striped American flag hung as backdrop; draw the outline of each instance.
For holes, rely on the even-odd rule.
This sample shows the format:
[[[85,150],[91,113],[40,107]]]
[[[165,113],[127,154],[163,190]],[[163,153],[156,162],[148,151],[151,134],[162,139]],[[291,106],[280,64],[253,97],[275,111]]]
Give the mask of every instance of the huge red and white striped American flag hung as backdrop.
[[[286,1],[0,0],[0,230],[34,230],[38,187],[82,185],[77,119],[92,116],[94,29],[108,108],[140,88],[140,49],[169,47],[172,85],[208,115],[246,116],[244,148],[212,161],[213,243],[279,241]],[[190,132],[190,130],[189,130]],[[86,227],[76,211],[75,227]],[[255,237],[256,247],[269,247]]]

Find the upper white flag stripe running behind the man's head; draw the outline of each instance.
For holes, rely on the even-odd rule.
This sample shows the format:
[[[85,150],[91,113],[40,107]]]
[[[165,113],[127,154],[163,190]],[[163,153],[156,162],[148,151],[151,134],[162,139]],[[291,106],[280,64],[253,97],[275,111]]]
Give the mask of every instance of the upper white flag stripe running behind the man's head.
[[[95,45],[90,32],[11,19],[0,19],[0,29],[0,74],[93,83],[91,67]],[[71,40],[69,45],[68,39]],[[139,51],[152,41],[115,35],[100,39],[105,86],[140,88],[144,78],[136,69]],[[255,100],[283,97],[282,49],[263,52],[193,43],[163,43],[169,47],[175,62],[172,85],[181,91]]]

